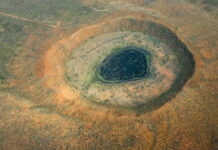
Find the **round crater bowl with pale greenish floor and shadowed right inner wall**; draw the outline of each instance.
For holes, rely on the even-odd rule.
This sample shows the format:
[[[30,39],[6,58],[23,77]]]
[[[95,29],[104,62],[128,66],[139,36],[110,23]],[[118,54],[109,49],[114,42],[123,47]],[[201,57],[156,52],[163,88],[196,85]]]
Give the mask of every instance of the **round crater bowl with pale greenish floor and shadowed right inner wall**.
[[[119,68],[119,60],[112,67],[114,72],[107,65],[103,67],[112,56],[133,47],[146,55],[144,72],[136,69],[142,75],[125,76],[131,69]],[[127,66],[128,62],[122,63]],[[188,48],[165,26],[143,19],[119,18],[103,24],[93,36],[74,48],[66,67],[69,84],[86,100],[141,112],[158,108],[172,99],[192,76],[195,62]],[[102,77],[101,69],[113,75]],[[124,69],[125,73],[119,74],[116,69]],[[134,67],[132,73],[135,73]]]

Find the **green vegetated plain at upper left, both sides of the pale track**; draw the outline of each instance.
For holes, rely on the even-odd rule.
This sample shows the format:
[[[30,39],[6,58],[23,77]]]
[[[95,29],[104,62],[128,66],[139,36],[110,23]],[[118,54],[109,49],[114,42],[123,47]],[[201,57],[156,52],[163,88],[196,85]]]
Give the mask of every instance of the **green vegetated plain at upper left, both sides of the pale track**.
[[[0,0],[0,12],[27,18],[46,25],[56,25],[61,22],[65,30],[72,26],[80,26],[92,21],[99,13],[75,0]],[[0,15],[0,79],[10,77],[7,64],[11,58],[18,55],[24,49],[24,43],[29,35],[40,34],[46,31],[47,35],[51,28],[31,23],[18,18]],[[37,39],[41,40],[41,37]],[[30,50],[34,50],[30,47]]]

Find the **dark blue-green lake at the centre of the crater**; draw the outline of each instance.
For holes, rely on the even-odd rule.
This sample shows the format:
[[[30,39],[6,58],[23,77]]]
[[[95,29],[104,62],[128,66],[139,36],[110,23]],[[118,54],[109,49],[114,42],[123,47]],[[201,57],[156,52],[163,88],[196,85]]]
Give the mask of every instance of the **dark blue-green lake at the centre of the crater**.
[[[99,79],[108,83],[142,79],[148,74],[147,59],[148,53],[142,48],[122,48],[102,61]]]

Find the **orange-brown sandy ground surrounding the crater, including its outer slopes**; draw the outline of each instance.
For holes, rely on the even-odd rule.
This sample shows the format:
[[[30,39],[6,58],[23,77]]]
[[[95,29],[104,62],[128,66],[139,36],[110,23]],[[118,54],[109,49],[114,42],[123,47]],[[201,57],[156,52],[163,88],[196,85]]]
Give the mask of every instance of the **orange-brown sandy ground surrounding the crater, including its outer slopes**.
[[[84,1],[91,7],[94,3],[108,4],[104,9],[110,12],[92,25],[69,30],[72,33],[60,25],[40,42],[30,36],[22,53],[9,62],[14,78],[1,85],[0,149],[217,150],[216,16],[198,7],[201,4],[179,0]],[[196,61],[193,77],[175,98],[139,116],[93,105],[65,79],[71,51],[112,18],[128,15],[167,26]],[[29,51],[33,45],[36,51]]]

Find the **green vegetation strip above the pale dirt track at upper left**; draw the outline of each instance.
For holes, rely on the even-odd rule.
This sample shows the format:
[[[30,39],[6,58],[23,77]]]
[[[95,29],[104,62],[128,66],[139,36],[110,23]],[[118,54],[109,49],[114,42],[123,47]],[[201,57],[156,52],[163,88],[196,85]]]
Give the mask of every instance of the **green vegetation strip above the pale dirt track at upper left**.
[[[75,0],[0,0],[0,3],[0,10],[3,12],[44,22],[69,22],[78,16],[87,19],[85,16],[94,13],[94,10]]]

